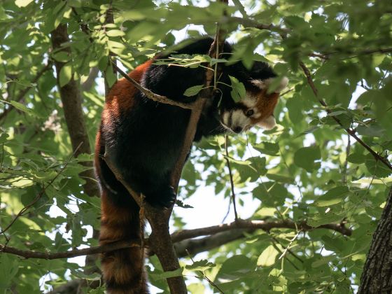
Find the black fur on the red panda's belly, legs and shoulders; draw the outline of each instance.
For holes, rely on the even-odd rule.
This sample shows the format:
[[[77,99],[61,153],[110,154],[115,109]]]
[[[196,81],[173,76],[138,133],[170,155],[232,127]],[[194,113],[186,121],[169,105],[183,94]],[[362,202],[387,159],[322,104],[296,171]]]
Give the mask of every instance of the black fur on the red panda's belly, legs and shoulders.
[[[211,38],[205,38],[175,54],[207,54],[211,43]],[[226,54],[222,57],[228,59],[230,55],[227,53],[231,51],[231,46],[226,43],[224,46]],[[160,55],[160,57],[167,56]],[[272,69],[263,62],[255,62],[251,71],[248,71],[241,62],[223,66],[221,71],[221,82],[230,85],[229,75],[235,76],[244,83],[247,90],[253,91],[255,89],[250,83],[251,78],[265,79],[275,76]],[[204,77],[205,69],[202,67],[190,69],[153,64],[144,73],[141,83],[152,92],[165,95],[175,101],[193,102],[196,97],[185,97],[183,92],[194,85],[202,85]],[[223,84],[218,85],[221,91],[203,112],[197,126],[195,141],[224,132],[219,121],[219,100],[221,100],[219,106],[221,111],[235,107],[230,96],[231,88]],[[153,102],[138,92],[130,111],[123,111],[120,117],[112,118],[111,125],[102,125],[102,144],[106,148],[106,155],[110,157],[132,189],[143,193],[150,204],[169,207],[175,200],[176,195],[169,184],[170,175],[179,157],[189,118],[190,110]],[[113,174],[109,172],[111,175],[107,177],[105,174],[102,170],[102,177],[107,185],[116,183],[118,187]],[[123,195],[124,191],[118,192],[118,195]],[[113,201],[120,205],[127,205],[122,199],[113,199]],[[126,201],[134,205],[133,200]]]

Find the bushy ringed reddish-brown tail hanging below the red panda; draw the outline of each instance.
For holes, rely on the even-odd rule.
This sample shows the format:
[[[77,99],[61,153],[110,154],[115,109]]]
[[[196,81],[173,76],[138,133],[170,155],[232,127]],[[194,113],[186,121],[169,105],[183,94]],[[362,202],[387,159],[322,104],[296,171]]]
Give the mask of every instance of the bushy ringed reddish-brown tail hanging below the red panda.
[[[116,180],[100,155],[104,146],[97,135],[95,169],[101,184],[101,232],[99,244],[141,237],[139,207],[125,187]],[[143,248],[126,248],[102,254],[102,274],[108,294],[148,293]]]

